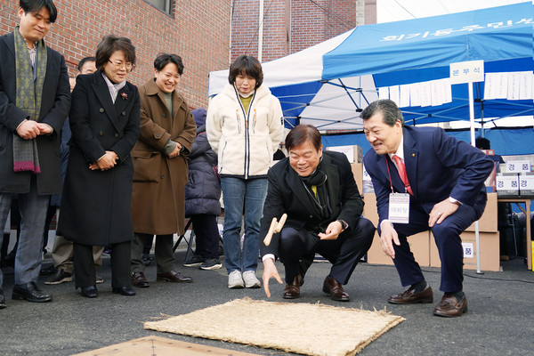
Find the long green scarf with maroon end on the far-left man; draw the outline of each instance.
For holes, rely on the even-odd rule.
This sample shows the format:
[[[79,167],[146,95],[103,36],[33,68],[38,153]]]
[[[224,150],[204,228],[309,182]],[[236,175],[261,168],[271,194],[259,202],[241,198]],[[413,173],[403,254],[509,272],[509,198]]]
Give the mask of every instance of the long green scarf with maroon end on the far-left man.
[[[29,120],[39,121],[44,76],[46,75],[46,45],[44,40],[36,43],[36,63],[35,66],[32,66],[28,46],[20,35],[18,26],[13,31],[13,35],[17,85],[15,105],[28,114]],[[24,140],[17,133],[13,133],[13,170],[15,172],[41,173],[36,139]]]

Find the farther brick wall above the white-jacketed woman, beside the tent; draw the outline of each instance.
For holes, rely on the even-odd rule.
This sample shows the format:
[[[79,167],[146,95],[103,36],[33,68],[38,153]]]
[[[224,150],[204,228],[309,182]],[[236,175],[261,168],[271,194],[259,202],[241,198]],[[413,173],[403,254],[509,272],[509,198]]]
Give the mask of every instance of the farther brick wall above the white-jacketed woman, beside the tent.
[[[264,0],[263,61],[319,44],[356,26],[356,0]],[[259,1],[234,0],[232,61],[258,55]]]

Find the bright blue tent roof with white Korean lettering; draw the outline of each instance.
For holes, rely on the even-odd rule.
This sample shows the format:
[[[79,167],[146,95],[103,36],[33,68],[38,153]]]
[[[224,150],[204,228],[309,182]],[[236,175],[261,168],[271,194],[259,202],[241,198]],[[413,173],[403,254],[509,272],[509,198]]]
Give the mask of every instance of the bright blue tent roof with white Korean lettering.
[[[529,2],[360,26],[323,56],[322,78],[449,67],[458,61],[531,61],[532,54]],[[449,77],[449,70],[445,74]]]

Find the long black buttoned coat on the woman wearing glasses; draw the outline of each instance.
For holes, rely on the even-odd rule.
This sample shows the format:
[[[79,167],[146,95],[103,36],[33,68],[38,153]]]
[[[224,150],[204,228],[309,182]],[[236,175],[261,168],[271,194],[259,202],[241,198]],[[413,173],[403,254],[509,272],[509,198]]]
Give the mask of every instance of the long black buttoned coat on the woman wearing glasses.
[[[140,133],[137,87],[126,83],[114,104],[100,71],[78,76],[69,123],[72,137],[58,234],[96,246],[133,239],[130,151]],[[106,150],[117,153],[117,165],[105,171],[90,170]]]

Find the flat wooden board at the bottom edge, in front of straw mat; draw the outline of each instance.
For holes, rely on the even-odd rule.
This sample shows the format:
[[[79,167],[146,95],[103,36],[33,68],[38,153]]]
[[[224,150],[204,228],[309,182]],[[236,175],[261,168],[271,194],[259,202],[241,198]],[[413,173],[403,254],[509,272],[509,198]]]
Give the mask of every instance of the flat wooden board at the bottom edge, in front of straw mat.
[[[201,344],[185,343],[160,336],[148,336],[114,344],[101,349],[78,353],[75,356],[256,356],[255,353],[232,351]]]

